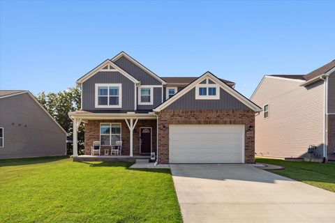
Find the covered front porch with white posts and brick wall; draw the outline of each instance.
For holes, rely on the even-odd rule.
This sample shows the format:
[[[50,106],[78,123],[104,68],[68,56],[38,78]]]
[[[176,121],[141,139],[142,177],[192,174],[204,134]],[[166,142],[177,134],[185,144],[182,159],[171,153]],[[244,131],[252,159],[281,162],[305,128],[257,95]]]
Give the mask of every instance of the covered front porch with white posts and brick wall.
[[[157,118],[153,113],[124,114],[70,113],[73,119],[73,161],[127,161],[150,159],[157,151]],[[77,128],[84,123],[84,155],[78,155]],[[94,141],[101,142],[98,154],[91,154]],[[121,155],[112,155],[111,148],[122,141]]]

